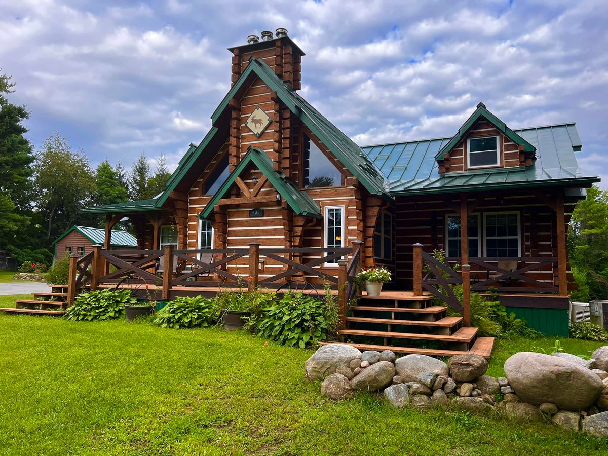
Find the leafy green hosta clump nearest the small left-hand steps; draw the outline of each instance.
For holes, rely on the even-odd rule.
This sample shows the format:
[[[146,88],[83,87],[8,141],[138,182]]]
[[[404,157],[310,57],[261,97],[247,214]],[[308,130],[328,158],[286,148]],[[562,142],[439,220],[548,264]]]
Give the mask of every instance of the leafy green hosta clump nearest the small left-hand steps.
[[[78,295],[74,305],[67,308],[68,320],[108,320],[120,317],[125,304],[137,300],[131,290],[96,290]]]

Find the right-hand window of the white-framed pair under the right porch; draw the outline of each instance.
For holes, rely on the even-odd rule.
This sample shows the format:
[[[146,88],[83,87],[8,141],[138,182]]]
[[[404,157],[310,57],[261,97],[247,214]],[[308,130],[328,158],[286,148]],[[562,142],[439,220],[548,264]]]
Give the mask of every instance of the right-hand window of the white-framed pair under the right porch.
[[[483,214],[486,257],[520,257],[519,212]]]

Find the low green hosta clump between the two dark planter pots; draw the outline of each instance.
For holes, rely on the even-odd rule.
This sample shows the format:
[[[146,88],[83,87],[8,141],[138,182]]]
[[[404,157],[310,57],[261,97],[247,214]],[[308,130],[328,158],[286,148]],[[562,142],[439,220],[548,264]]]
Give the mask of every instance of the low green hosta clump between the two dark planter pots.
[[[196,328],[213,325],[218,317],[219,309],[213,300],[202,296],[180,296],[156,313],[154,324],[161,328]]]

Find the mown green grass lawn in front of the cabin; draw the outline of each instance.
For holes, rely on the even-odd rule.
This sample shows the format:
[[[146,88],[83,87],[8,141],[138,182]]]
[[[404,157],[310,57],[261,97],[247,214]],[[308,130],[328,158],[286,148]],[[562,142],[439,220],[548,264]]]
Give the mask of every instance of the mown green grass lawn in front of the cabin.
[[[14,297],[0,297],[10,305]],[[572,353],[600,344],[562,340]],[[499,342],[492,375],[518,350]],[[606,454],[607,441],[547,424],[375,396],[332,402],[303,379],[309,352],[242,331],[0,316],[0,454]]]

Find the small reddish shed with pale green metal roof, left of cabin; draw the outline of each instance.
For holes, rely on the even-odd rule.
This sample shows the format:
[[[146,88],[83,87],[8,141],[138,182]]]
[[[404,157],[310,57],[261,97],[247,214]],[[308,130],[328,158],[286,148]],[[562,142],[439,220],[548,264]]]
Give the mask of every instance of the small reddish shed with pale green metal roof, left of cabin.
[[[78,254],[84,257],[92,252],[95,244],[103,246],[105,242],[105,230],[103,228],[91,228],[88,226],[73,226],[55,241],[55,258],[63,257],[65,254]],[[112,249],[137,249],[137,239],[124,230],[112,230]]]

